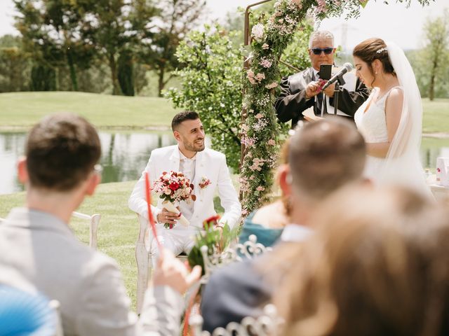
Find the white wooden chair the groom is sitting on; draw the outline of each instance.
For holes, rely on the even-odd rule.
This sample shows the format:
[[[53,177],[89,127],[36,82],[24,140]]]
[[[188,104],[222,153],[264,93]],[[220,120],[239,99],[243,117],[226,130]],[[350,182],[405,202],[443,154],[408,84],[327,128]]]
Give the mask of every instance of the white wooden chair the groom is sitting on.
[[[152,234],[149,230],[149,221],[147,218],[138,215],[139,235],[135,243],[135,261],[138,264],[138,293],[137,293],[137,312],[142,311],[145,290],[152,277]],[[178,255],[181,261],[187,260],[187,255]]]

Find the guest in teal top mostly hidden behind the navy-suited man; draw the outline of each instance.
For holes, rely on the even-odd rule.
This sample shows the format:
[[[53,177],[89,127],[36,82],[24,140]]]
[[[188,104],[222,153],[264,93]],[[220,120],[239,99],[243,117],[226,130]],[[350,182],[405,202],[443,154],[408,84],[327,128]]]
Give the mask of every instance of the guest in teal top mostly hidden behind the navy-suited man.
[[[287,139],[282,146],[279,173],[288,165],[289,142],[290,139]],[[288,224],[290,224],[290,199],[288,195],[282,194],[280,200],[253,211],[245,219],[239,242],[244,243],[248,241],[250,235],[255,235],[258,243],[263,246],[272,246],[281,237],[283,228]]]

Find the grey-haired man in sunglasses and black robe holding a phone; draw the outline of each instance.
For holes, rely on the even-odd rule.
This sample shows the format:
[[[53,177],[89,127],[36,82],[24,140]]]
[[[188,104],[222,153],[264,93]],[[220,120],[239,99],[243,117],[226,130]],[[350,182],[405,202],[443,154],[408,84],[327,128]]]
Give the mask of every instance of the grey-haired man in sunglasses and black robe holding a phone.
[[[334,64],[335,50],[334,36],[330,31],[311,34],[311,67],[281,80],[281,94],[274,104],[281,122],[291,120],[291,127],[294,128],[298,121],[304,119],[302,112],[312,106],[316,116],[321,116],[321,109],[324,109],[323,113],[334,113],[335,84],[321,91],[323,80],[319,77],[319,71],[321,64]],[[346,84],[341,87],[337,114],[354,120],[354,114],[368,99],[370,91],[354,73],[346,73],[343,78]]]

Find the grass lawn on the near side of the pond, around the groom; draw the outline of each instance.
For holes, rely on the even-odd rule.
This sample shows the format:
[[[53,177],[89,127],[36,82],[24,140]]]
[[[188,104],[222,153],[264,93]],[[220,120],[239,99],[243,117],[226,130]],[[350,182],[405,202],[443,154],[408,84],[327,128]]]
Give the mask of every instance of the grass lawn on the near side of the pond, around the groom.
[[[232,180],[238,190],[238,176],[233,175]],[[98,250],[119,263],[126,291],[133,302],[132,309],[135,310],[138,269],[134,247],[139,225],[135,213],[128,209],[128,197],[134,185],[135,181],[100,184],[95,195],[87,197],[77,211],[102,215],[98,228]],[[13,207],[22,207],[24,204],[25,193],[0,195],[0,217],[5,218]],[[215,197],[214,204],[217,212],[222,213],[218,197]],[[89,243],[89,226],[86,220],[73,218],[70,226],[81,241]]]

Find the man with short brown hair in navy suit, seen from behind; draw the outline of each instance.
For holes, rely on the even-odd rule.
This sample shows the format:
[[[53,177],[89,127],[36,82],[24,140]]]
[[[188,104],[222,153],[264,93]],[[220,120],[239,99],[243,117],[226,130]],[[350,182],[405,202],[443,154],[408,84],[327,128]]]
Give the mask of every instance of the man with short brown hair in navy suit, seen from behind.
[[[292,224],[284,228],[274,250],[308,239],[313,234],[311,216],[319,204],[343,186],[361,183],[365,160],[363,137],[344,118],[330,116],[298,130],[290,139],[288,167],[279,177],[284,195],[290,195]],[[267,266],[272,261],[267,253],[212,274],[201,300],[203,328],[212,332],[229,322],[240,323],[245,316],[260,316],[275,287],[265,276],[288,272],[288,265]]]

